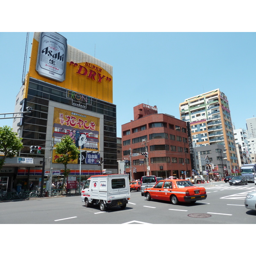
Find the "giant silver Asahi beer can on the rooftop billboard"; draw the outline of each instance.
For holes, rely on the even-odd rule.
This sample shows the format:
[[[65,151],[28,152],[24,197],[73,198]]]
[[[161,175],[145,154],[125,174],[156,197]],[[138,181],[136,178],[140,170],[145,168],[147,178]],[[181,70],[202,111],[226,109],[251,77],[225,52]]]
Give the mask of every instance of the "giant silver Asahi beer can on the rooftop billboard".
[[[39,75],[62,82],[66,76],[67,39],[56,32],[41,32],[36,71]]]

